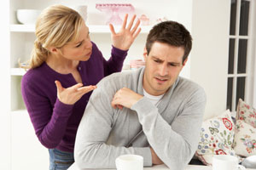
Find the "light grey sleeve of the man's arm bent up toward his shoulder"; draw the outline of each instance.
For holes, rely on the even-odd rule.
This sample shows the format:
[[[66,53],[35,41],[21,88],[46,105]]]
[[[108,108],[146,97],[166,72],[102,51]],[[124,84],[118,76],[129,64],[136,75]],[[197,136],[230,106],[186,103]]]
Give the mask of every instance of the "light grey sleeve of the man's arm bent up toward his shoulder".
[[[145,97],[131,109],[137,111],[148,143],[160,160],[171,169],[183,169],[195,154],[205,105],[206,96],[203,90],[199,90],[183,106],[172,125]]]

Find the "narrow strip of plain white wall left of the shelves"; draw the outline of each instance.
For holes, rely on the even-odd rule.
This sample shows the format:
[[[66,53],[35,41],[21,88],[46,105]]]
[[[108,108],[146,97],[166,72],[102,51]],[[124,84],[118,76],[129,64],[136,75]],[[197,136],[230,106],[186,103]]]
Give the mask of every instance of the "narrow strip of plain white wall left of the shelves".
[[[10,169],[10,105],[9,105],[9,0],[1,1],[0,5],[0,48],[1,48],[1,66],[0,66],[0,169]]]

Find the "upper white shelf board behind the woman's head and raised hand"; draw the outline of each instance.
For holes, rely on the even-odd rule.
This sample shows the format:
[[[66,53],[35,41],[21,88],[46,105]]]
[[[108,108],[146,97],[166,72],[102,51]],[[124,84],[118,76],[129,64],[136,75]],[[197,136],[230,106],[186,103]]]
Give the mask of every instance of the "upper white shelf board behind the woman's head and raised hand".
[[[109,26],[88,26],[90,33],[110,33]],[[152,26],[140,26],[142,28],[141,33],[148,33]],[[115,31],[119,31],[120,26],[114,26]],[[10,25],[10,31],[12,32],[34,32],[34,25]]]

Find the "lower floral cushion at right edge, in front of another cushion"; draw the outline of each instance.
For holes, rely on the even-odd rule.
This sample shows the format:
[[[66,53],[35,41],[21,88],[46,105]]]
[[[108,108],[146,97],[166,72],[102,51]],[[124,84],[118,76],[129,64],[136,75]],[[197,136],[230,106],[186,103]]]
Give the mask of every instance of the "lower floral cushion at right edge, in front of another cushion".
[[[256,128],[244,121],[236,121],[234,150],[239,156],[256,155]]]

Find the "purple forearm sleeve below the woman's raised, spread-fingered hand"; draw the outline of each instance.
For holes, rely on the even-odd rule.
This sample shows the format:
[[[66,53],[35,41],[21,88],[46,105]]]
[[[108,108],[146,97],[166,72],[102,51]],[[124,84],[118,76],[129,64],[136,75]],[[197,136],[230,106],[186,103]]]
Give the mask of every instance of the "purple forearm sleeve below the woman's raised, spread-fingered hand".
[[[106,60],[103,59],[105,77],[111,75],[113,72],[122,71],[123,63],[128,50],[121,50],[112,46],[111,57]]]

